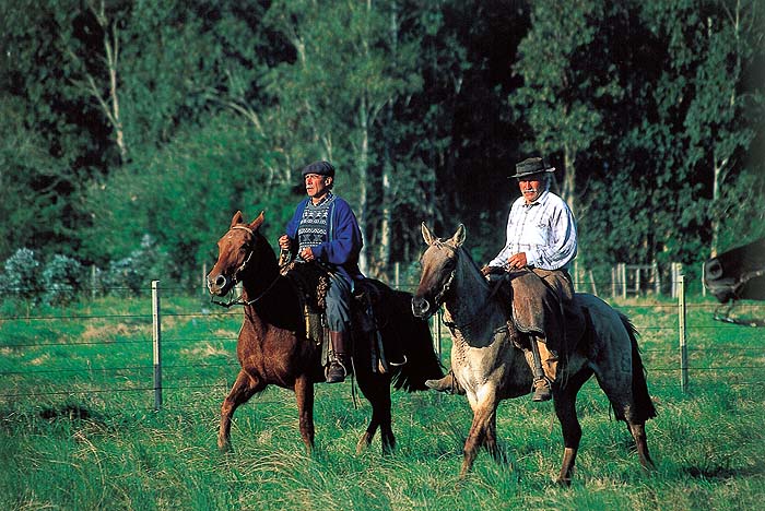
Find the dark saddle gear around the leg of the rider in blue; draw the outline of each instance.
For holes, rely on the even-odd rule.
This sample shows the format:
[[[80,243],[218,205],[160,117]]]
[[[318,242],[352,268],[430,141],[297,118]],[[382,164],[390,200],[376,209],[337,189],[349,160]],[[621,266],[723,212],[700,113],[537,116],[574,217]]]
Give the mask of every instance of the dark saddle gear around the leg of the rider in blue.
[[[306,338],[321,345],[321,364],[329,363],[329,330],[326,324],[327,292],[330,286],[330,272],[319,264],[292,261],[280,270],[290,280],[301,299],[305,318]],[[390,322],[390,288],[373,278],[354,282],[351,299],[351,341],[365,342],[367,349],[351,349],[351,353],[368,353],[374,372],[388,372],[391,366],[405,361],[400,342],[396,335],[382,335]],[[365,357],[366,358],[366,357]],[[355,360],[357,364],[367,360]]]

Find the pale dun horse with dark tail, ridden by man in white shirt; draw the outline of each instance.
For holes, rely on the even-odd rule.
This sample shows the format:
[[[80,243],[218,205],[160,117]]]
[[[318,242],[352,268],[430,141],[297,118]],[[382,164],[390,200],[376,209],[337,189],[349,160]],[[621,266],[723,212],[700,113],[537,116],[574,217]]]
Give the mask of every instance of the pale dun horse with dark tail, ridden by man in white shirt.
[[[444,304],[450,318],[451,367],[473,409],[460,473],[464,476],[481,445],[497,457],[497,404],[529,393],[532,375],[523,352],[510,340],[508,329],[514,325],[508,324],[507,305],[495,298],[492,286],[462,248],[464,227],[460,225],[448,240],[436,238],[425,224],[422,234],[428,248],[422,257],[422,276],[412,310],[415,316],[428,317]],[[636,331],[625,316],[592,295],[576,294],[575,304],[587,318],[587,328],[575,353],[562,357],[558,380],[563,383],[553,385],[565,445],[557,482],[570,483],[581,439],[576,395],[593,373],[616,418],[627,424],[640,464],[651,467],[645,421],[656,416],[656,411],[648,395]]]

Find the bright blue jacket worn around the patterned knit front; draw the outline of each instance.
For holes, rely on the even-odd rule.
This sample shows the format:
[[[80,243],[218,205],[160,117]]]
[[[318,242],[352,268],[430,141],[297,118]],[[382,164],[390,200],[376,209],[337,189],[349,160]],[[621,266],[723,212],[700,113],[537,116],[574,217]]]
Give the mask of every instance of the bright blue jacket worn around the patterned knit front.
[[[286,235],[293,241],[293,247],[297,243],[297,228],[303,218],[303,211],[310,198],[306,198],[297,204],[295,214],[287,223]],[[327,241],[311,247],[316,259],[322,263],[329,263],[337,268],[338,273],[352,282],[354,278],[364,278],[358,270],[358,254],[362,251],[364,241],[358,222],[353,214],[353,210],[348,202],[334,195],[334,200],[329,206]]]

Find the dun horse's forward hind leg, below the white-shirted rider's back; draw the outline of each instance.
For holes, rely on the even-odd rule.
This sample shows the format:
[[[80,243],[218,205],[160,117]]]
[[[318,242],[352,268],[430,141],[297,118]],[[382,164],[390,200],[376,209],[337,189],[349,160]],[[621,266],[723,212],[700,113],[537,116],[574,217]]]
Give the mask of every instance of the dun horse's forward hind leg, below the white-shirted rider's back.
[[[564,388],[553,385],[555,415],[561,423],[561,432],[563,433],[563,463],[561,464],[561,473],[555,479],[555,483],[560,485],[568,486],[572,484],[572,473],[581,440],[581,426],[576,415],[576,394],[591,375],[590,369],[585,369],[568,377]]]

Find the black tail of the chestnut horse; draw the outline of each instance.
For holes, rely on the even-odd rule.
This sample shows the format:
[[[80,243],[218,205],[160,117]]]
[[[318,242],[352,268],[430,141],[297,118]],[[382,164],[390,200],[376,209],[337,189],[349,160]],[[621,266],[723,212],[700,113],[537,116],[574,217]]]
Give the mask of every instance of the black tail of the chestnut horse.
[[[395,389],[407,392],[427,390],[425,380],[438,379],[444,376],[438,355],[433,347],[433,336],[426,320],[412,314],[412,295],[404,292],[393,292],[392,301],[396,304],[398,318],[397,334],[407,363],[397,366],[392,371]]]

